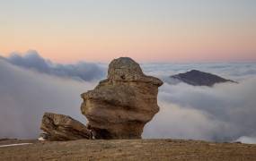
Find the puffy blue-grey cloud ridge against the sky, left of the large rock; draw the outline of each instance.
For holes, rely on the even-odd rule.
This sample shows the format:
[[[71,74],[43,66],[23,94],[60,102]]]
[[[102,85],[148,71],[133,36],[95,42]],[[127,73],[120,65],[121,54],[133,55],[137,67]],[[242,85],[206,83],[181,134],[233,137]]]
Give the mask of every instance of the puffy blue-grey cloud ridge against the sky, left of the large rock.
[[[13,53],[4,59],[11,64],[25,69],[58,77],[72,77],[75,80],[98,80],[105,74],[105,69],[98,64],[85,62],[79,62],[77,64],[54,64],[50,60],[42,58],[33,50],[28,51],[23,56],[18,53]]]

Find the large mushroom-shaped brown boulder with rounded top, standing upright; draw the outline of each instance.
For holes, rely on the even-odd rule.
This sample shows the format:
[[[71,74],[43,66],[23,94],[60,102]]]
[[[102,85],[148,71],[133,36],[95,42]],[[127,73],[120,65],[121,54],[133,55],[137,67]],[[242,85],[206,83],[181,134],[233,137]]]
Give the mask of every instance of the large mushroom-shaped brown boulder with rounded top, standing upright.
[[[107,80],[81,97],[82,114],[95,139],[140,139],[143,128],[159,111],[162,80],[146,76],[139,64],[120,57],[109,65]]]

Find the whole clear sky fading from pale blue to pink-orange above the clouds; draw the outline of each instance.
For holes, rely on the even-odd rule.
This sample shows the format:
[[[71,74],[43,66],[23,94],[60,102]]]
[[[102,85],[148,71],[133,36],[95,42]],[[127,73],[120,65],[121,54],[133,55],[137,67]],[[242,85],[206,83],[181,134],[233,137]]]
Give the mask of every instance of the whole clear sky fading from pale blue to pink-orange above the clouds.
[[[255,0],[0,0],[0,55],[256,61]]]

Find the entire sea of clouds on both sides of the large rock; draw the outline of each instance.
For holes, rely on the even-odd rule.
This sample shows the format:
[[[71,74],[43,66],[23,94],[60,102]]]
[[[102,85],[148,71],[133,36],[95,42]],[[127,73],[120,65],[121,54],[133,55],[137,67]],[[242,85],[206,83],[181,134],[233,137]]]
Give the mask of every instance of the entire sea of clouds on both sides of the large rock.
[[[146,124],[144,138],[173,138],[256,143],[256,64],[142,64],[162,79],[160,112]],[[170,84],[168,77],[192,69],[239,84],[213,88]],[[34,139],[44,112],[67,114],[86,123],[80,94],[93,89],[107,64],[55,64],[36,51],[0,57],[0,138]],[[169,83],[168,83],[169,82]]]

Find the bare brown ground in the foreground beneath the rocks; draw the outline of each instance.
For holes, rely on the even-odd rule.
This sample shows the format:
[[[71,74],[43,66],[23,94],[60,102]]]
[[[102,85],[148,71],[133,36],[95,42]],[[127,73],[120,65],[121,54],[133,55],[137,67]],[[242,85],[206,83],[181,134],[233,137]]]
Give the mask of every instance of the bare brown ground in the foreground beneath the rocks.
[[[1,145],[31,142],[30,145]],[[256,160],[256,145],[196,140],[0,140],[0,160]]]

